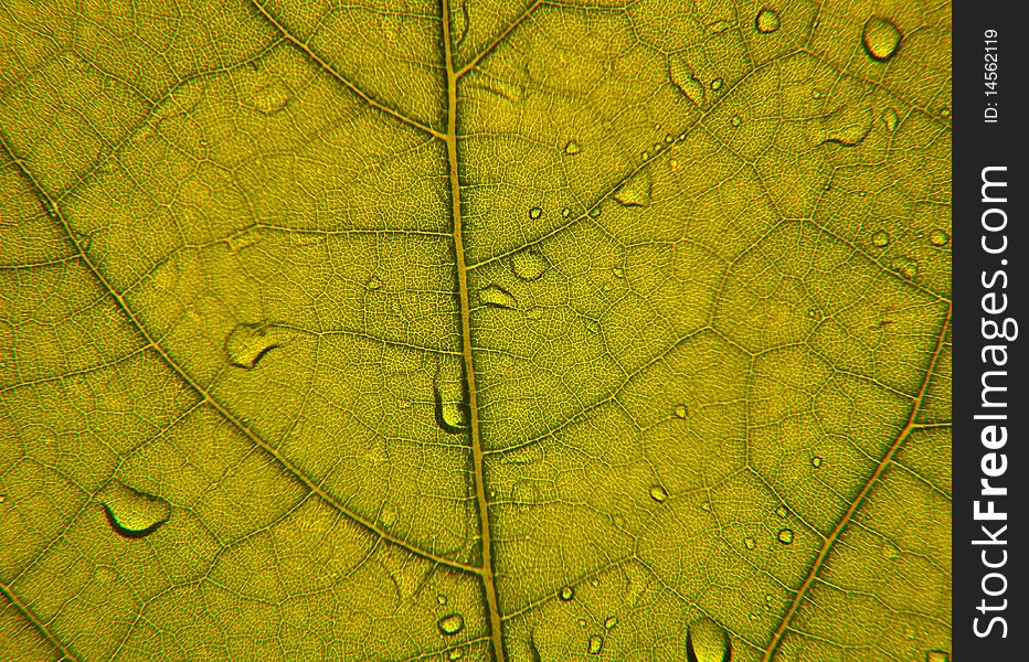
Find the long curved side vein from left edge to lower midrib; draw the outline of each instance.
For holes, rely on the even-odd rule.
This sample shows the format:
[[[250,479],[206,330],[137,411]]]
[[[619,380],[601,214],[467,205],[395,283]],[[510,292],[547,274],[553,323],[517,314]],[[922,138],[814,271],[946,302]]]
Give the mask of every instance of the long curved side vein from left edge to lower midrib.
[[[406,549],[407,552],[411,552],[412,554],[415,554],[416,556],[426,558],[428,560],[438,563],[441,565],[445,565],[445,566],[459,569],[459,570],[464,570],[467,573],[471,573],[475,575],[482,574],[482,568],[478,566],[473,566],[473,565],[465,564],[465,563],[460,563],[458,560],[453,560],[450,558],[438,556],[427,549],[422,549],[421,547],[412,543],[409,543],[407,541],[403,538],[391,535],[386,533],[385,531],[379,528],[378,526],[375,526],[373,522],[365,520],[361,515],[357,514],[356,512],[351,511],[346,505],[343,505],[338,499],[336,499],[332,494],[327,492],[321,485],[316,483],[310,477],[304,473],[304,471],[301,471],[299,467],[297,467],[296,465],[290,462],[288,459],[286,459],[282,453],[278,452],[278,450],[276,450],[270,445],[268,445],[267,441],[262,439],[256,433],[254,433],[242,420],[236,418],[229,409],[226,409],[220,402],[218,402],[214,398],[214,396],[208,392],[206,388],[204,388],[199,383],[197,383],[197,381],[194,381],[193,377],[190,376],[190,374],[187,373],[185,370],[183,370],[182,366],[180,366],[179,363],[174,359],[172,359],[171,355],[168,354],[168,352],[165,351],[165,348],[162,348],[160,343],[150,335],[150,332],[147,331],[142,322],[140,322],[139,319],[136,317],[136,313],[132,311],[131,307],[129,307],[129,305],[125,301],[125,298],[114,288],[114,286],[110,285],[110,282],[104,276],[104,274],[97,268],[95,264],[93,264],[93,260],[89,258],[86,252],[82,249],[82,246],[78,244],[78,239],[75,237],[75,234],[72,231],[71,225],[68,225],[67,220],[64,217],[64,214],[61,212],[57,204],[45,191],[43,191],[43,189],[39,185],[39,182],[35,181],[35,178],[32,177],[32,173],[25,169],[24,163],[22,163],[22,161],[14,156],[14,151],[9,147],[7,139],[3,136],[0,136],[0,149],[2,149],[2,151],[4,151],[7,154],[11,157],[11,160],[13,161],[14,167],[18,169],[18,172],[25,179],[26,182],[29,182],[29,185],[32,188],[35,195],[43,203],[43,206],[46,207],[54,216],[56,216],[62,228],[67,235],[68,241],[72,242],[72,244],[75,246],[75,250],[77,252],[77,254],[82,256],[83,264],[86,265],[86,267],[89,269],[89,273],[93,274],[93,277],[96,278],[96,280],[107,291],[107,293],[110,295],[112,299],[115,300],[115,303],[118,306],[121,312],[128,318],[129,322],[132,324],[136,331],[142,337],[147,345],[150,348],[153,348],[153,351],[157,352],[157,354],[161,357],[161,360],[177,375],[179,375],[179,377],[190,388],[197,392],[204,399],[204,402],[206,402],[225,420],[227,420],[233,427],[235,427],[236,430],[240,431],[240,434],[242,434],[244,437],[250,439],[255,446],[257,446],[258,448],[267,452],[269,456],[272,456],[275,459],[275,461],[277,461],[284,469],[286,469],[289,473],[296,477],[300,482],[307,485],[307,488],[311,490],[314,493],[318,494],[318,496],[320,496],[330,506],[335,508],[338,512],[349,517],[352,522],[364,527],[365,530],[375,534],[380,538],[388,541],[390,543],[393,543],[397,547]]]

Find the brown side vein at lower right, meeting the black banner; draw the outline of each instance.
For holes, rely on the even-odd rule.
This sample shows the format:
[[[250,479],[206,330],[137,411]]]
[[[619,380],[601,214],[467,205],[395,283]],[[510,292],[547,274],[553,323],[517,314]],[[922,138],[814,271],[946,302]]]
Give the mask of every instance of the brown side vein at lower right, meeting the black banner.
[[[793,617],[800,608],[800,604],[804,601],[807,591],[810,589],[811,585],[815,583],[815,579],[818,577],[818,573],[821,570],[821,566],[825,565],[826,558],[828,558],[829,553],[832,551],[836,541],[847,527],[847,524],[850,523],[850,520],[863,503],[864,498],[868,496],[868,493],[871,491],[871,489],[876,485],[877,482],[879,482],[879,479],[887,470],[887,467],[892,463],[893,456],[897,455],[897,451],[900,450],[901,446],[904,445],[904,441],[908,440],[908,437],[911,436],[911,433],[917,429],[919,426],[915,424],[915,419],[919,416],[919,410],[922,407],[922,399],[925,396],[925,392],[929,389],[929,384],[935,374],[936,361],[940,359],[940,352],[945,344],[947,330],[951,327],[952,312],[953,307],[947,306],[946,318],[943,321],[943,327],[941,328],[940,335],[936,339],[936,346],[933,350],[933,355],[929,361],[929,367],[925,370],[925,378],[922,380],[922,387],[919,389],[919,395],[915,397],[914,405],[911,407],[911,415],[908,417],[908,424],[904,425],[904,428],[897,436],[897,439],[894,439],[893,444],[890,445],[889,450],[887,450],[887,453],[879,462],[879,466],[876,467],[876,470],[872,472],[871,477],[868,479],[868,481],[866,481],[864,487],[861,488],[861,491],[858,492],[858,495],[855,498],[855,500],[850,502],[850,508],[847,509],[847,512],[844,513],[842,517],[840,517],[840,521],[836,524],[836,527],[831,533],[829,533],[828,537],[826,537],[825,543],[821,545],[821,549],[818,551],[818,556],[815,558],[815,563],[811,565],[811,569],[808,572],[807,577],[804,578],[804,584],[802,584],[800,588],[797,589],[797,594],[794,596],[793,601],[789,604],[789,609],[786,610],[786,615],[783,617],[783,620],[779,621],[778,629],[776,629],[775,633],[772,636],[772,641],[770,641],[767,648],[765,648],[765,652],[761,658],[761,662],[770,662],[773,655],[775,655],[775,651],[778,650],[778,645],[782,643],[783,637],[786,634],[786,630],[789,629],[789,623],[793,620]]]

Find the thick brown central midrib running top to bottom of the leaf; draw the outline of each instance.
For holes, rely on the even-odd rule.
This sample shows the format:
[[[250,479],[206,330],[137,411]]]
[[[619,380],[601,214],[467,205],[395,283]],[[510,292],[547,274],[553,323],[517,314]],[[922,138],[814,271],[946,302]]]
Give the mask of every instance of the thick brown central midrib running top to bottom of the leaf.
[[[447,74],[447,161],[450,179],[450,215],[454,223],[454,255],[457,261],[457,288],[460,297],[460,338],[465,375],[468,385],[468,407],[471,413],[471,468],[475,501],[479,511],[479,538],[482,545],[482,587],[489,615],[489,640],[496,662],[506,662],[501,632],[500,605],[494,578],[492,536],[489,528],[489,501],[486,498],[485,455],[482,433],[479,428],[479,395],[475,384],[475,365],[471,357],[471,301],[468,293],[468,268],[462,236],[460,178],[457,162],[457,72],[454,70],[453,35],[450,34],[450,0],[442,0],[443,47]]]

